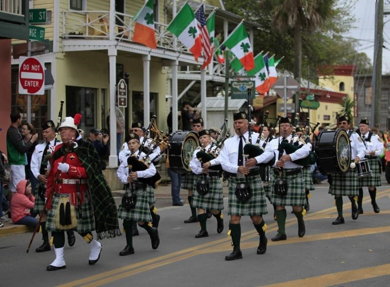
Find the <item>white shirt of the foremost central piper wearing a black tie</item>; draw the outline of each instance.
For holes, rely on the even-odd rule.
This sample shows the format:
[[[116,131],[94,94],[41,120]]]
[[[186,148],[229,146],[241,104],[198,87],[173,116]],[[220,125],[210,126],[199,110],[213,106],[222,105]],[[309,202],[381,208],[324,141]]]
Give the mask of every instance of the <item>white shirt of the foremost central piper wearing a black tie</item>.
[[[246,140],[248,140],[249,133],[248,131],[244,134]],[[252,133],[252,143],[256,143],[258,133]],[[238,170],[238,146],[239,146],[240,136],[234,135],[233,137],[227,139],[223,144],[222,150],[217,157],[219,163],[222,165],[223,170],[230,173],[237,173]],[[243,142],[243,147],[245,143]],[[265,151],[255,157],[258,164],[260,163],[268,163],[273,159],[273,150],[270,147],[270,144],[266,145]],[[213,160],[214,161],[214,160]],[[245,165],[245,158],[243,165]],[[250,167],[250,169],[256,168],[256,166]]]

